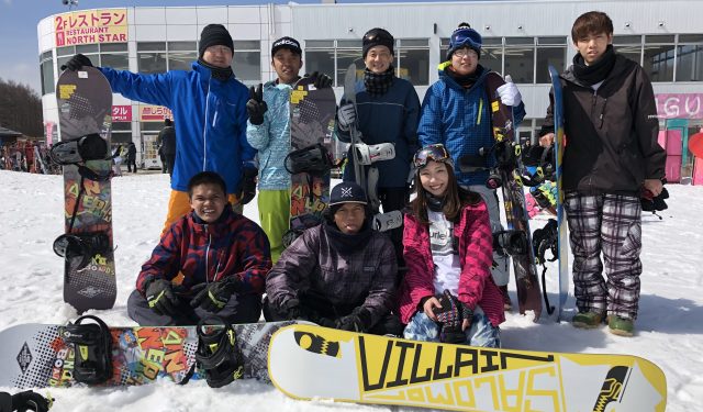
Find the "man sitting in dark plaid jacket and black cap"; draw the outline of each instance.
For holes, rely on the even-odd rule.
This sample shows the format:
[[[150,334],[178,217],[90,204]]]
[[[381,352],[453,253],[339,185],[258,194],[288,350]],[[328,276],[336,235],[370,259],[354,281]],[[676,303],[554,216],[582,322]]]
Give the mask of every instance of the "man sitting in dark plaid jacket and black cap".
[[[355,182],[335,186],[324,222],[298,237],[268,274],[264,316],[401,335],[400,319],[391,314],[395,253],[370,221],[364,189]]]

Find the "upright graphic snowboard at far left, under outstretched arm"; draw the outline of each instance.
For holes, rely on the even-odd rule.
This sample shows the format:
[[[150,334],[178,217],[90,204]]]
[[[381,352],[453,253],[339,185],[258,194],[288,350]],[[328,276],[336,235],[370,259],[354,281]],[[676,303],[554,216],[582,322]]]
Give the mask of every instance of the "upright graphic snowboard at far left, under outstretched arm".
[[[112,90],[100,70],[83,67],[65,70],[56,83],[56,100],[62,142],[99,135],[107,143],[103,159],[64,165],[64,301],[78,313],[89,309],[110,309],[116,298],[114,250],[112,245],[112,200],[109,160],[112,127]],[[91,237],[92,236],[92,237]],[[100,247],[85,247],[90,256],[66,250],[94,242]],[[82,244],[86,246],[86,244]],[[58,253],[58,252],[57,252]],[[85,259],[83,259],[85,258]]]

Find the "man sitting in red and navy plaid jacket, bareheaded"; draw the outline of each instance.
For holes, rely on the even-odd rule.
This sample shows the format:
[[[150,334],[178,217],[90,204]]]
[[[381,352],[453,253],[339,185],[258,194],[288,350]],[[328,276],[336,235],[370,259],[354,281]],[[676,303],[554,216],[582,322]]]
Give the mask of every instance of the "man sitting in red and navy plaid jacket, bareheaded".
[[[271,268],[268,238],[232,210],[225,193],[224,179],[212,171],[188,182],[191,212],[161,235],[127,300],[140,325],[192,325],[212,314],[225,323],[259,320]]]

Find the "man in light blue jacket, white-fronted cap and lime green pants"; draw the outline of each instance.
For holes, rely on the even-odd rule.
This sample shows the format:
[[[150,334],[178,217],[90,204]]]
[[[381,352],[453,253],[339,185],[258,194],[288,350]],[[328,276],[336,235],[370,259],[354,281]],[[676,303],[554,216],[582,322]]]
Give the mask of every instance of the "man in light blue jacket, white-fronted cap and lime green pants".
[[[246,140],[259,154],[259,221],[271,244],[271,258],[283,252],[283,233],[290,221],[290,174],[286,155],[290,152],[290,93],[303,65],[300,43],[281,37],[271,46],[271,67],[278,78],[249,89],[246,109],[249,121]],[[330,76],[314,73],[316,88],[332,87]]]

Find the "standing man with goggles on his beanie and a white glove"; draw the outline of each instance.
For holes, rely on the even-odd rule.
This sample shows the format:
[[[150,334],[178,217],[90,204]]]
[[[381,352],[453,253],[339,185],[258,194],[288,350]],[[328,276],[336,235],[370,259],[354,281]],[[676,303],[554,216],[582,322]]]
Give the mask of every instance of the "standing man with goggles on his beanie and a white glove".
[[[442,143],[454,163],[459,157],[479,155],[481,147],[491,147],[493,140],[491,111],[486,89],[486,75],[490,71],[479,64],[481,57],[481,35],[469,24],[461,23],[449,40],[447,62],[439,65],[439,80],[427,89],[422,103],[417,138],[423,146]],[[515,126],[525,116],[525,104],[510,76],[506,83],[498,89],[501,101],[513,107]],[[486,166],[494,166],[495,159],[488,158]],[[500,209],[495,190],[486,187],[488,171],[462,172],[455,170],[459,186],[479,192],[489,208],[491,230],[502,230]],[[498,265],[492,275],[495,285],[503,293],[505,309],[510,309],[507,280],[509,258],[504,254],[493,253]]]

